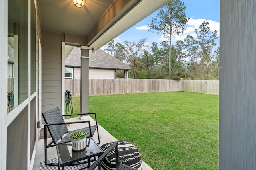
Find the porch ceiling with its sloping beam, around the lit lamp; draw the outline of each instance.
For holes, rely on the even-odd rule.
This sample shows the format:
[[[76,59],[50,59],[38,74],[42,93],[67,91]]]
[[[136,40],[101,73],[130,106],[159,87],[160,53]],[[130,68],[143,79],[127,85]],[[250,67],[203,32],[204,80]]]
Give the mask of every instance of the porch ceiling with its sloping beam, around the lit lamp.
[[[170,0],[39,0],[43,30],[85,37],[81,44],[99,49]]]

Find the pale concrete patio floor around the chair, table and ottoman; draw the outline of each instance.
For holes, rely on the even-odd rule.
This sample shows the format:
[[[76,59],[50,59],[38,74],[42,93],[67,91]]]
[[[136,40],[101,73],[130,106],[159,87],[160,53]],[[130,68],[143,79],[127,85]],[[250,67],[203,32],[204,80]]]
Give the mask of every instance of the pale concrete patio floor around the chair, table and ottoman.
[[[90,120],[91,125],[96,124],[96,122],[91,117],[89,117],[89,119],[84,119],[84,120]],[[66,122],[84,121],[84,120],[80,120],[79,118],[65,119]],[[84,123],[76,123],[76,124],[71,124],[68,129],[71,131],[75,129],[80,129],[84,126],[86,126]],[[42,125],[42,128],[43,127],[44,125]],[[105,143],[117,141],[117,139],[113,137],[108,131],[106,131],[102,126],[98,125],[98,129],[100,134],[100,146]],[[96,142],[98,142],[98,136],[96,133],[97,132],[95,132],[93,139]],[[48,140],[50,141],[50,139]],[[57,158],[56,147],[48,148],[48,159],[52,159],[52,158]],[[40,139],[38,141],[33,170],[40,170],[40,162],[42,161],[44,161],[44,139]],[[142,161],[142,170],[153,170],[153,169],[150,168],[148,164]]]

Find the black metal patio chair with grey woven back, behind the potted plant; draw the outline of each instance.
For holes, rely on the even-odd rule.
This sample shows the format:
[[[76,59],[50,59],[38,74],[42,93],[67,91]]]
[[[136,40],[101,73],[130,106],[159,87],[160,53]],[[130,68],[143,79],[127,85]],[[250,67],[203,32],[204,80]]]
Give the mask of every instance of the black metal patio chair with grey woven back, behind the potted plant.
[[[70,139],[70,135],[73,131],[68,131],[67,124],[74,124],[74,123],[88,123],[88,127],[84,127],[81,129],[76,129],[74,131],[85,131],[86,132],[86,138],[92,137],[94,135],[94,132],[97,129],[98,133],[98,144],[100,144],[100,136],[99,136],[99,131],[98,131],[98,123],[97,123],[97,118],[96,118],[96,113],[83,113],[83,114],[74,114],[74,115],[94,115],[95,116],[95,121],[96,125],[90,124],[90,121],[76,121],[76,122],[65,122],[63,117],[65,116],[70,116],[70,115],[62,115],[60,113],[59,107],[56,107],[54,109],[51,109],[49,111],[46,111],[42,113],[42,116],[45,121],[44,125],[44,160],[45,160],[45,165],[52,165],[52,166],[57,166],[58,164],[56,163],[49,163],[47,159],[47,149],[50,147],[54,147],[57,144],[60,143],[67,143],[72,141]],[[50,133],[50,136],[52,138],[52,141],[47,144],[47,129]]]

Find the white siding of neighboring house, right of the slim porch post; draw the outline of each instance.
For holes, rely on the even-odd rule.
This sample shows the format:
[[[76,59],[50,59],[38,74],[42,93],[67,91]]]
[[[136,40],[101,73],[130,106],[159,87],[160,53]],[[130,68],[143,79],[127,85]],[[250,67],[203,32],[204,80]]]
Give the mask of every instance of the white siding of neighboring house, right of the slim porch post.
[[[89,68],[89,79],[114,79],[115,70]]]

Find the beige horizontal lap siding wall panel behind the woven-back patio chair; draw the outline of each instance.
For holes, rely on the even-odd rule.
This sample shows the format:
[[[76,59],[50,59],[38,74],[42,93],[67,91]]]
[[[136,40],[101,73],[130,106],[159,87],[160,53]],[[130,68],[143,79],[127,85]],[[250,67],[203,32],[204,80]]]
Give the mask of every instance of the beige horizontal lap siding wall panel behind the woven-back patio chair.
[[[42,112],[61,109],[62,35],[42,31]]]

